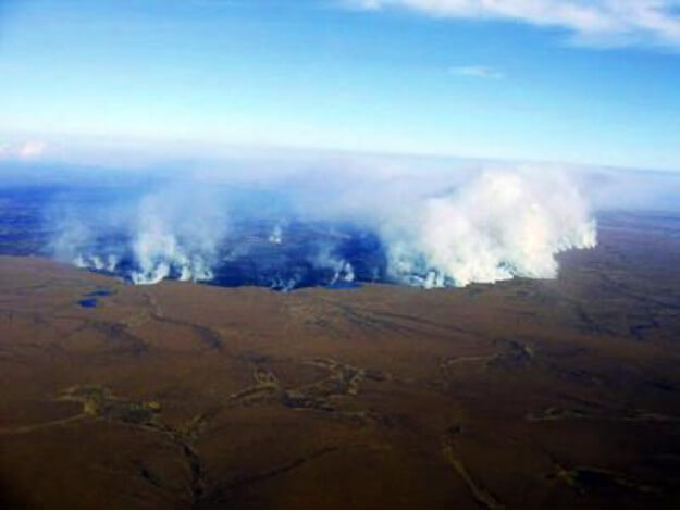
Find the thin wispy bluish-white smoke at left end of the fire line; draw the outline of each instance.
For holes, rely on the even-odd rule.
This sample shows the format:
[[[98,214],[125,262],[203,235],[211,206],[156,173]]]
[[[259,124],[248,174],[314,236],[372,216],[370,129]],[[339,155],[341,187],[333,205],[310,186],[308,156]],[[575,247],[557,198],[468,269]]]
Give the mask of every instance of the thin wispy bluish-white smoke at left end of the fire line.
[[[224,208],[196,183],[183,185],[111,205],[106,214],[70,211],[57,225],[52,253],[78,267],[121,271],[134,284],[210,281],[226,230]]]

